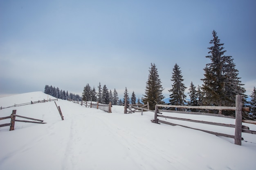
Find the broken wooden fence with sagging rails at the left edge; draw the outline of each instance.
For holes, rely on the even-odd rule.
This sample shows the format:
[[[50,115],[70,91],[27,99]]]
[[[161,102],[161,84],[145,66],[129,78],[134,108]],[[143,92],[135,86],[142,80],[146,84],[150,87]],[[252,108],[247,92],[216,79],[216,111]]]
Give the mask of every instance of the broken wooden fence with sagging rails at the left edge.
[[[29,120],[35,120],[35,121],[37,121],[37,122],[35,122],[35,121],[28,121],[28,120],[16,120],[16,117],[25,118],[25,119],[29,119]],[[25,116],[16,115],[16,110],[13,110],[10,116],[0,118],[0,120],[4,120],[4,119],[11,119],[11,122],[10,122],[10,123],[5,123],[5,124],[0,124],[0,127],[10,126],[10,130],[9,130],[9,131],[13,131],[13,130],[14,130],[15,122],[45,124],[45,123],[43,122],[43,120],[34,119],[34,118],[28,118],[28,117],[25,117]]]

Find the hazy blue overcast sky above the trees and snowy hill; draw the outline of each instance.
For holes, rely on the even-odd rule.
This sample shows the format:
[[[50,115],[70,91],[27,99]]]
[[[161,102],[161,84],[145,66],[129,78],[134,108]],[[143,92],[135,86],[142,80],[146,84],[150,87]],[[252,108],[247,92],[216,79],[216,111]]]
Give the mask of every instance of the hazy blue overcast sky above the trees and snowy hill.
[[[255,0],[0,0],[0,96],[45,85],[81,96],[101,82],[141,98],[150,63],[166,98],[175,63],[188,92],[202,85],[213,30],[250,95],[255,16]]]

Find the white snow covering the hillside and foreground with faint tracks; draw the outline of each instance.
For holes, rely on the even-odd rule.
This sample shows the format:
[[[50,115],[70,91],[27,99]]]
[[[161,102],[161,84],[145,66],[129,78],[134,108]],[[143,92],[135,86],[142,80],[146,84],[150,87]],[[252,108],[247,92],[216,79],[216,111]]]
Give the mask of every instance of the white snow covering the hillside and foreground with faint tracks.
[[[38,101],[43,92],[0,98],[0,105]],[[0,117],[17,115],[47,124],[15,122],[0,128],[0,170],[254,170],[256,135],[243,133],[242,146],[234,139],[218,137],[181,126],[154,124],[153,112],[124,114],[123,106],[112,113],[58,100],[0,110]],[[164,113],[188,119],[234,124],[230,118]],[[23,120],[22,118],[16,118]],[[234,135],[234,128],[166,120],[194,128]],[[10,120],[0,120],[0,124]],[[244,124],[244,123],[243,123]],[[244,124],[256,131],[256,125]],[[247,142],[245,142],[247,141]]]

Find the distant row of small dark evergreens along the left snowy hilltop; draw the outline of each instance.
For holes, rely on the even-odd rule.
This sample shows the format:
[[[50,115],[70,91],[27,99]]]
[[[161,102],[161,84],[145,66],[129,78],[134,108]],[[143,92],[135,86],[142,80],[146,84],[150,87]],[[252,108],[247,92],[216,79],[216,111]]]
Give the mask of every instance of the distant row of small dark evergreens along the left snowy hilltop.
[[[81,101],[81,96],[79,96],[78,94],[73,94],[73,93],[68,93],[65,92],[65,90],[60,90],[58,87],[52,87],[52,85],[45,85],[45,94],[49,94],[55,98],[59,98],[62,100],[79,100]]]

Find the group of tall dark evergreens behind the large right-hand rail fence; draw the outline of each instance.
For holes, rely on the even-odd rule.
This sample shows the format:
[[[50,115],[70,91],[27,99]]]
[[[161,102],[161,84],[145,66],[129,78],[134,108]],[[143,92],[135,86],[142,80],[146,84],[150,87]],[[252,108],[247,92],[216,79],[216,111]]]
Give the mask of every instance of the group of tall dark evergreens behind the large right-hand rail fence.
[[[189,87],[190,100],[186,101],[186,95],[184,94],[187,87],[185,87],[182,72],[179,65],[175,63],[171,81],[172,88],[170,92],[170,100],[168,105],[191,105],[191,106],[231,106],[236,105],[236,94],[243,95],[243,107],[250,107],[251,114],[244,112],[243,118],[255,118],[256,117],[256,92],[250,96],[252,100],[247,102],[245,95],[245,88],[243,83],[238,77],[238,70],[234,63],[234,59],[231,56],[225,56],[224,47],[220,43],[220,39],[217,36],[216,31],[212,32],[213,39],[210,41],[212,45],[209,47],[208,56],[210,63],[207,63],[204,68],[204,78],[201,79],[203,84],[201,86],[193,85],[191,82]],[[150,109],[154,109],[156,104],[164,104],[162,101],[164,96],[162,91],[164,90],[161,85],[157,68],[155,63],[151,63],[149,70],[148,81],[146,82],[145,95],[143,95],[142,101],[149,102]],[[249,104],[249,105],[248,105]],[[179,110],[178,108],[174,108]],[[200,111],[198,109],[191,109],[191,111]],[[224,115],[234,116],[234,111],[222,111],[209,110],[209,113],[221,113]]]

